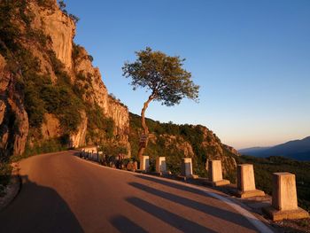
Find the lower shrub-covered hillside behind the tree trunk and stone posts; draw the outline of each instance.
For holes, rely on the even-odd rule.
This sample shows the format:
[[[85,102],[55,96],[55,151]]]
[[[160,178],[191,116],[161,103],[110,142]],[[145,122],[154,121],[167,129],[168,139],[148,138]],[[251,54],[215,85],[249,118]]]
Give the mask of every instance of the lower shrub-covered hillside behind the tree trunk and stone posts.
[[[133,155],[137,154],[139,135],[142,133],[140,116],[130,113],[129,142]],[[146,119],[151,136],[145,155],[151,160],[158,156],[167,157],[167,166],[175,174],[180,173],[181,161],[184,157],[193,159],[194,173],[206,176],[205,163],[208,159],[221,159],[223,174],[235,183],[236,157],[238,153],[232,147],[221,144],[221,140],[213,131],[201,125],[176,125],[160,123]],[[155,164],[155,162],[152,162]]]

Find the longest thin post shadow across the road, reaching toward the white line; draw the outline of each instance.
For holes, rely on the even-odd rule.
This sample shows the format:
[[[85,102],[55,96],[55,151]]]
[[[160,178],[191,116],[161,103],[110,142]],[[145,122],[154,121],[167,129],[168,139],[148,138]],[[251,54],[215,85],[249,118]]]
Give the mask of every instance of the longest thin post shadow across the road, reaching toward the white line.
[[[233,222],[236,225],[243,226],[244,228],[256,230],[250,222],[244,221],[245,219],[242,218],[241,214],[236,214],[234,212],[230,212],[228,210],[224,210],[216,206],[211,206],[205,203],[200,203],[190,198],[183,198],[181,196],[177,196],[175,194],[172,194],[166,191],[157,190],[147,185],[144,185],[142,183],[129,183],[129,185],[135,187],[136,189],[151,193],[152,195],[158,196],[160,198],[165,198],[169,201],[180,204],[182,206],[187,206],[192,209],[198,210],[204,214],[213,215],[219,219],[224,219],[226,221]],[[248,224],[244,224],[244,222]]]

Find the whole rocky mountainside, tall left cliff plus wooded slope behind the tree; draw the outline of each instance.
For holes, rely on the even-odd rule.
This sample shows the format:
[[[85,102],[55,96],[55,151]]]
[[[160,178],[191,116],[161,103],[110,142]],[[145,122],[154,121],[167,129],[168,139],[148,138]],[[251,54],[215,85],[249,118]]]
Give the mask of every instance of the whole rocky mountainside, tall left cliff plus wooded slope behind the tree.
[[[0,162],[91,144],[135,158],[140,117],[108,94],[93,58],[74,43],[77,19],[56,0],[0,1]],[[221,159],[226,176],[236,171],[238,153],[208,128],[147,122],[145,153],[167,156],[172,171],[183,157],[199,175],[208,159]]]

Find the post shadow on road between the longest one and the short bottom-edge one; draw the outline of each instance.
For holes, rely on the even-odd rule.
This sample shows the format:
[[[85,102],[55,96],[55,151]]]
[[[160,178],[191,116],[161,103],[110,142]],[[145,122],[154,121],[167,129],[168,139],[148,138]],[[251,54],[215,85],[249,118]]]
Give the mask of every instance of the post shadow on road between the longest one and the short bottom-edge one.
[[[159,206],[154,206],[141,198],[127,198],[126,200],[133,206],[142,209],[147,214],[151,214],[161,221],[167,222],[167,224],[182,232],[216,232],[213,229],[208,229],[205,226],[171,213]]]

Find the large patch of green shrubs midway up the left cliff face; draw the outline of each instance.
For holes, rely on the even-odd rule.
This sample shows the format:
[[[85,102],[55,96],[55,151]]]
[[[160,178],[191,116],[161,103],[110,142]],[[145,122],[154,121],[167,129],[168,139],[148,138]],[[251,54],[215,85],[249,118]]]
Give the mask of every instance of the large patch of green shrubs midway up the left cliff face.
[[[25,107],[30,127],[40,128],[44,113],[53,113],[60,120],[65,133],[74,132],[81,122],[79,110],[83,105],[74,94],[70,77],[55,54],[50,52],[51,64],[58,75],[57,85],[52,84],[50,76],[39,74],[39,62],[28,50],[20,48],[16,55],[23,74]]]

